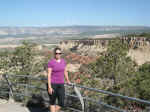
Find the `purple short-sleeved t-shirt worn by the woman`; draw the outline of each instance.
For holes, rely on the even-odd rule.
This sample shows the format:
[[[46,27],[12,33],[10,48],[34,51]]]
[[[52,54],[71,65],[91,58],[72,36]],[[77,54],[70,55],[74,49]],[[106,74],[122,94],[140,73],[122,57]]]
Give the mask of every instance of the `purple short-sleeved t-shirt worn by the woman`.
[[[51,73],[52,84],[64,84],[65,67],[66,67],[66,62],[64,59],[61,59],[60,62],[57,62],[56,59],[51,59],[48,62],[48,68],[52,68],[52,73]]]

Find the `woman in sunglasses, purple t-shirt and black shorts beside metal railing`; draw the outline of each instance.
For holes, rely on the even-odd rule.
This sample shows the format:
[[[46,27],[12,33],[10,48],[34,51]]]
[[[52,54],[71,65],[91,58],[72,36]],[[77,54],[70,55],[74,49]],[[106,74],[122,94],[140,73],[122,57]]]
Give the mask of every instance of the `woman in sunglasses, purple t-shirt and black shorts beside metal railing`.
[[[54,49],[54,58],[48,62],[48,93],[50,97],[50,112],[58,112],[64,106],[64,77],[70,84],[66,62],[61,58],[61,49]],[[56,105],[58,99],[58,105]]]

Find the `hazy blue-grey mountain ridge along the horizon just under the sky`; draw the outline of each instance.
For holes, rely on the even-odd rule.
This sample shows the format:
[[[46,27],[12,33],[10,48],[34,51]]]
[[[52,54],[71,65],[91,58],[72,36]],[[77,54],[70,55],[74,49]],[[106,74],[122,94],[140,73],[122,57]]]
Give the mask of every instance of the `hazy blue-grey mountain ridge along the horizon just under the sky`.
[[[0,35],[63,35],[63,34],[82,34],[82,33],[97,33],[102,31],[133,31],[136,30],[150,31],[149,26],[96,26],[96,25],[73,25],[73,26],[46,26],[46,27],[0,27]],[[107,32],[106,32],[107,33]],[[109,33],[109,32],[108,32]],[[112,32],[113,33],[113,32]]]

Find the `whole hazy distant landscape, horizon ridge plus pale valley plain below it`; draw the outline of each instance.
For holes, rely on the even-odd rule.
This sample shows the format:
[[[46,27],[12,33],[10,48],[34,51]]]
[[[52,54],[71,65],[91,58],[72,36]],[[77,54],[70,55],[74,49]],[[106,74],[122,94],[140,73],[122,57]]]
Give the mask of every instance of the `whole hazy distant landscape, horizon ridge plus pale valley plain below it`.
[[[62,40],[97,38],[150,32],[148,26],[48,26],[48,27],[0,27],[0,45],[18,45],[28,40],[38,44],[56,44]],[[106,37],[106,36],[104,36]]]

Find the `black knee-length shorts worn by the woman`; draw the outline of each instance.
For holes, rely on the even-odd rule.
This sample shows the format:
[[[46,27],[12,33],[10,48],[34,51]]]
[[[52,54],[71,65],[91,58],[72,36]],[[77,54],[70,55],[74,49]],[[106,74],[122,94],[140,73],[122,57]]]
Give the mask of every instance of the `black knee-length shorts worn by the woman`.
[[[58,100],[58,105],[64,107],[65,99],[65,87],[64,84],[51,84],[54,92],[49,94],[50,105],[56,105],[56,99]]]

